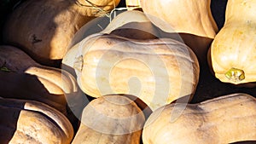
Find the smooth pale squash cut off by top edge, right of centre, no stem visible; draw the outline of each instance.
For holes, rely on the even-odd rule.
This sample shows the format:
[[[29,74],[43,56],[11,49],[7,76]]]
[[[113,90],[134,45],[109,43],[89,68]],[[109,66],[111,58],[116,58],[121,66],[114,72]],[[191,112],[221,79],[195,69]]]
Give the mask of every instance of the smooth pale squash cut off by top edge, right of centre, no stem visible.
[[[148,19],[164,32],[214,38],[218,31],[210,9],[211,0],[141,0],[140,3]]]

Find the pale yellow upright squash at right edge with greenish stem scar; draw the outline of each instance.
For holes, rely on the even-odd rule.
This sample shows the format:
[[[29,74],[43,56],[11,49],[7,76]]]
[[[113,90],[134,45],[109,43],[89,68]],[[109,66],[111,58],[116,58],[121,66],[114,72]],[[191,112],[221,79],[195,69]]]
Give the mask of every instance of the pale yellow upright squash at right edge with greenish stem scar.
[[[229,0],[227,3],[224,26],[209,49],[209,64],[221,82],[256,82],[255,7],[254,1]]]

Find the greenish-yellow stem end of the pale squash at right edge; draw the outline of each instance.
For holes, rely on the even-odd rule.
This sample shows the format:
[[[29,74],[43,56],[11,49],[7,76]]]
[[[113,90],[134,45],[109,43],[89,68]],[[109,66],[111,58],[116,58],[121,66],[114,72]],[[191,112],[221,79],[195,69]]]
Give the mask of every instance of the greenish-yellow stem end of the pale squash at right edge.
[[[245,78],[245,73],[241,69],[232,67],[225,76],[233,82],[240,82]]]

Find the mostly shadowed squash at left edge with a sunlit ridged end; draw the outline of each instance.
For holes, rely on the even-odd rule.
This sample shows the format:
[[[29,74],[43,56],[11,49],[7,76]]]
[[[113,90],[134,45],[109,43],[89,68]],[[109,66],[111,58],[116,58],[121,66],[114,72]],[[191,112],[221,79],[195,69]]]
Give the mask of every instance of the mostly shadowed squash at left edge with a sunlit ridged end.
[[[14,46],[0,46],[0,93],[5,98],[41,101],[68,114],[79,115],[85,101],[69,72],[42,66]],[[67,106],[69,107],[67,109]],[[69,113],[71,116],[72,113]]]

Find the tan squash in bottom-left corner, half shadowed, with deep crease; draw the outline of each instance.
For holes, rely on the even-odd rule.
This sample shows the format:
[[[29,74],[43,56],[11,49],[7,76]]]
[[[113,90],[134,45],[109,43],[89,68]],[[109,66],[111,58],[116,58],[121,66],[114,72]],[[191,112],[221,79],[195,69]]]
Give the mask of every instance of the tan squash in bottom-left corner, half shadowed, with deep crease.
[[[1,143],[69,144],[73,139],[68,119],[42,102],[0,98],[0,112]]]

